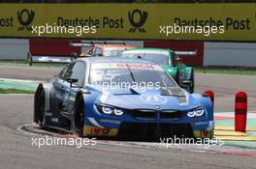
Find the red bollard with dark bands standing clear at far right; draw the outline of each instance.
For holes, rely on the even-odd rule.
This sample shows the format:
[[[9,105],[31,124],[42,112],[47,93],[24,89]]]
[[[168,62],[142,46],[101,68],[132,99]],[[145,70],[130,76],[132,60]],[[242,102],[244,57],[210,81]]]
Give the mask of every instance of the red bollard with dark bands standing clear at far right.
[[[247,95],[244,92],[236,94],[235,101],[235,130],[246,132]]]

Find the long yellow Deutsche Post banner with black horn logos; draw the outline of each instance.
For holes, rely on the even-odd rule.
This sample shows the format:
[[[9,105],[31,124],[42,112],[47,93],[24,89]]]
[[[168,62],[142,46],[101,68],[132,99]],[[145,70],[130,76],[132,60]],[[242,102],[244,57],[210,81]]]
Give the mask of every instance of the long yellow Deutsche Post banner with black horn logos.
[[[1,4],[0,37],[256,42],[256,4]]]

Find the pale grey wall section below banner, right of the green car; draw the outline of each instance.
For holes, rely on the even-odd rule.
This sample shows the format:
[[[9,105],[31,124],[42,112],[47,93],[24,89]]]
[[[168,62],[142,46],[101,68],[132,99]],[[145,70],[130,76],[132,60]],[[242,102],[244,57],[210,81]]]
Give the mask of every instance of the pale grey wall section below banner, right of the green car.
[[[205,42],[204,66],[256,67],[256,43]]]

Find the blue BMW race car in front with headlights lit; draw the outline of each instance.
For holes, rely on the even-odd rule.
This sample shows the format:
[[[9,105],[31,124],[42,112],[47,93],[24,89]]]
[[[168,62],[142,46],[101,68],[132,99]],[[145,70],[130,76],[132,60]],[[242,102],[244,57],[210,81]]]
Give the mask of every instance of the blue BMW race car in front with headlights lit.
[[[67,65],[35,93],[34,122],[80,136],[212,137],[208,96],[190,94],[160,66],[91,57]]]

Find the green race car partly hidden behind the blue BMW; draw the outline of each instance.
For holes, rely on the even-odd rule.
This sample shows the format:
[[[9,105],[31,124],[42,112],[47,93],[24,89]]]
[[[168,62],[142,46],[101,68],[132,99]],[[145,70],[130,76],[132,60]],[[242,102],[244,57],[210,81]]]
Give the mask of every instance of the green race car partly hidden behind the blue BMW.
[[[176,83],[190,93],[194,92],[194,70],[179,62],[177,54],[193,55],[193,51],[173,51],[164,48],[133,48],[122,52],[122,57],[153,61],[168,71]]]

